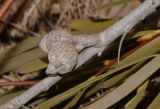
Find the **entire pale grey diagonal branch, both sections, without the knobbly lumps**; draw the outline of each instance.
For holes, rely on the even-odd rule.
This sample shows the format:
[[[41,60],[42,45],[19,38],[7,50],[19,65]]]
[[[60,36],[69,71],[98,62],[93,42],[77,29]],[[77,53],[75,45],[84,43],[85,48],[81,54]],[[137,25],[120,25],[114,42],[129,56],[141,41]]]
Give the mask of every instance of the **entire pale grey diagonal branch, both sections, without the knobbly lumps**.
[[[100,39],[101,47],[90,47],[82,52],[78,56],[77,67],[84,64],[92,56],[101,54],[101,52],[116,38],[123,35],[127,31],[133,28],[139,21],[143,20],[146,16],[156,11],[156,8],[160,5],[160,0],[146,0],[137,9],[132,11],[126,17],[119,22],[106,29],[105,31],[97,34]],[[32,98],[38,94],[47,91],[52,85],[59,81],[61,77],[47,77],[24,92],[22,95],[10,100],[6,104],[2,105],[0,109],[18,109],[22,105],[26,104]]]

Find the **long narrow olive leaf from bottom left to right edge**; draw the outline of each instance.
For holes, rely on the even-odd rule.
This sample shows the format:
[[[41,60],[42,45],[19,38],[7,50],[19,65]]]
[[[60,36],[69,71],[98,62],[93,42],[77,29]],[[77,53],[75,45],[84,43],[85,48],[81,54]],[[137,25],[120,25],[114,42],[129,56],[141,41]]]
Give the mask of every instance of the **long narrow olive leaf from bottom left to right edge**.
[[[156,55],[154,55],[154,56],[156,56]],[[111,74],[114,74],[114,73],[117,72],[117,71],[120,71],[120,70],[122,70],[122,69],[124,69],[124,68],[127,68],[127,67],[129,67],[129,66],[132,66],[132,65],[134,65],[134,64],[136,64],[136,63],[138,63],[138,62],[140,62],[140,61],[149,59],[149,58],[154,57],[154,56],[149,56],[149,57],[145,57],[145,58],[136,60],[136,61],[134,61],[134,62],[132,62],[132,63],[128,63],[127,65],[123,65],[123,66],[121,66],[121,67],[118,67],[118,68],[115,68],[115,69],[113,69],[113,70],[110,70],[109,72],[107,72],[107,73],[105,73],[105,74],[103,74],[103,75],[100,75],[100,76],[98,76],[98,77],[90,78],[90,79],[88,79],[87,81],[85,81],[85,82],[83,82],[83,83],[81,83],[81,84],[79,84],[79,85],[77,85],[77,86],[75,86],[75,87],[73,87],[73,88],[71,88],[71,89],[69,89],[69,90],[67,90],[67,91],[65,91],[65,92],[63,92],[63,93],[61,93],[61,94],[59,94],[59,95],[57,95],[57,96],[55,96],[55,97],[53,97],[53,98],[45,101],[45,102],[43,102],[43,103],[41,103],[41,104],[39,104],[39,105],[36,106],[34,109],[51,108],[51,107],[59,104],[60,102],[62,102],[62,101],[64,101],[64,100],[66,100],[66,99],[74,96],[74,95],[75,95],[78,91],[80,91],[81,89],[83,89],[83,88],[85,88],[85,87],[88,87],[89,85],[91,85],[91,84],[93,84],[93,83],[95,83],[95,82],[97,82],[97,81],[100,81],[101,79],[103,79],[103,78],[105,78],[105,77],[107,77],[107,76],[109,76],[109,75],[111,75]],[[159,56],[159,55],[158,55],[158,56]]]

